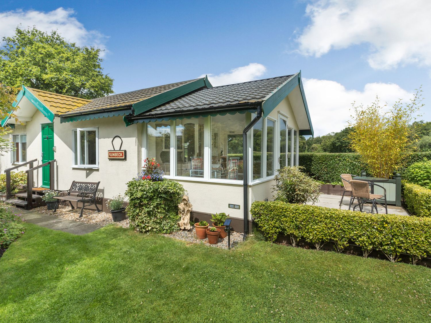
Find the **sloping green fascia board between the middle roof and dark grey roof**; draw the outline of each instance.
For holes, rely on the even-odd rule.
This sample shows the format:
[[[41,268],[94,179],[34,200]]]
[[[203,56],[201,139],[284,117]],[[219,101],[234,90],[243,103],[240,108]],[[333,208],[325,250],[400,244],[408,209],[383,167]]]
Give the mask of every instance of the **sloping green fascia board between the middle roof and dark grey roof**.
[[[134,103],[132,106],[134,109],[134,115],[139,115],[143,112],[155,108],[156,106],[160,106],[163,103],[176,99],[180,96],[183,96],[184,94],[190,93],[191,91],[200,89],[201,87],[212,87],[207,76],[205,76],[204,78],[199,78],[196,81],[181,85],[179,87],[175,87],[175,89],[156,94],[155,96],[151,96],[148,99],[144,99],[142,101]]]

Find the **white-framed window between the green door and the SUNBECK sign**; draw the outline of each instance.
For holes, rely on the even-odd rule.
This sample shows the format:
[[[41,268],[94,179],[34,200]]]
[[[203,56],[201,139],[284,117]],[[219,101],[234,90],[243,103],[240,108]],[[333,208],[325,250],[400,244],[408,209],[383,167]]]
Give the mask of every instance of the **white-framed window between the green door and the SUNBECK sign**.
[[[72,130],[73,166],[99,167],[99,134],[97,128]]]

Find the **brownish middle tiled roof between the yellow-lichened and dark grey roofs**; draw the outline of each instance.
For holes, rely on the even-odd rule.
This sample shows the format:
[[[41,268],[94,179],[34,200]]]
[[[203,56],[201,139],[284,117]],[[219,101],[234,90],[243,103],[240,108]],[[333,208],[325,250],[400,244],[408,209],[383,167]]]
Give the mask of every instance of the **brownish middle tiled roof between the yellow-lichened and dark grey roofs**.
[[[91,100],[91,102],[85,104],[84,106],[81,106],[79,109],[75,109],[73,113],[75,112],[88,113],[102,108],[106,109],[106,108],[115,108],[115,107],[131,107],[132,104],[135,102],[148,99],[152,96],[155,96],[156,94],[172,90],[175,87],[179,87],[181,85],[184,85],[196,80],[197,79],[171,83],[171,84],[161,85],[157,87],[150,87],[147,89],[136,90],[136,91],[126,92],[126,93],[103,96],[103,97]]]

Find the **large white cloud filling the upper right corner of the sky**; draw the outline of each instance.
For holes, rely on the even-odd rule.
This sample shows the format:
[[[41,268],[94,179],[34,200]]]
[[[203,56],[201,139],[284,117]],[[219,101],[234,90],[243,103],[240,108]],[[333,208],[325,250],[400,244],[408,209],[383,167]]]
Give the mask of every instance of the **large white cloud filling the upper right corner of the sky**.
[[[320,57],[367,43],[372,68],[431,66],[430,12],[429,0],[319,0],[306,7],[311,24],[297,39],[299,52]]]

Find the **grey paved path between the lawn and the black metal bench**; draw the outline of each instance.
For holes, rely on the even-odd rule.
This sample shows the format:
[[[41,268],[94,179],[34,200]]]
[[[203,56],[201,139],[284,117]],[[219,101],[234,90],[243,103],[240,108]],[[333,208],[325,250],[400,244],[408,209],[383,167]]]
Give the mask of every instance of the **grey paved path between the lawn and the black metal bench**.
[[[37,224],[48,229],[69,232],[72,234],[82,235],[93,232],[101,228],[95,224],[88,224],[81,221],[66,220],[53,215],[42,214],[38,212],[23,210],[22,208],[10,207],[11,211],[21,214],[22,219],[28,223]]]

